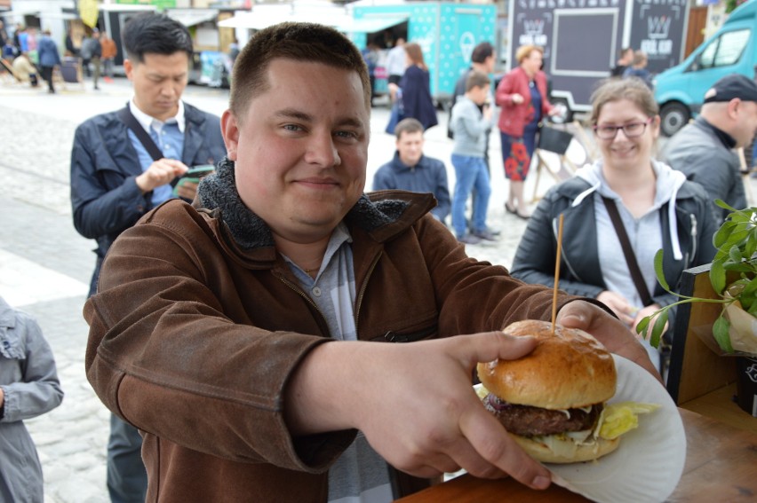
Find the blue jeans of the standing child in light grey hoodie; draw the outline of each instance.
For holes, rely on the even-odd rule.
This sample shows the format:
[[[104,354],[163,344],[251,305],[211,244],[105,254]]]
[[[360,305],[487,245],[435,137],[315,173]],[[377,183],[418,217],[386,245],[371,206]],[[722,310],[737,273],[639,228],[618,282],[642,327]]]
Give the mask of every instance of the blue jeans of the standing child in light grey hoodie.
[[[468,157],[452,154],[455,168],[455,193],[452,197],[452,228],[458,238],[466,234],[466,201],[475,187],[476,197],[473,208],[474,232],[486,230],[486,212],[489,208],[491,185],[489,171],[483,157]]]

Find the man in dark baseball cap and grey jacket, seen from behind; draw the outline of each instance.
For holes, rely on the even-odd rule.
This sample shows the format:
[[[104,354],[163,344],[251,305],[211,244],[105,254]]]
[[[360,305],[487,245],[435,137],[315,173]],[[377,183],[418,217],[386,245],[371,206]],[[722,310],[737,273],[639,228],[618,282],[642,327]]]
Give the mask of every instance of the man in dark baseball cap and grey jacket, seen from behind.
[[[713,199],[715,220],[728,211],[714,204],[721,199],[734,208],[747,206],[737,148],[749,145],[757,130],[757,83],[731,74],[705,92],[697,120],[668,142],[663,159],[689,180],[705,187]]]

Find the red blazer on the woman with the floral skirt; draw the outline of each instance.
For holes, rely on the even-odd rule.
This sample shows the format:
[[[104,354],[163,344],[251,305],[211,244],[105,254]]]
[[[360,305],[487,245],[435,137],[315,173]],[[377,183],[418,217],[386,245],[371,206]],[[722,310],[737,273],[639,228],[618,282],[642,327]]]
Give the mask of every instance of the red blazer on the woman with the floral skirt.
[[[531,92],[529,89],[529,75],[522,67],[514,68],[499,82],[494,100],[498,106],[502,107],[499,113],[499,130],[513,138],[522,138],[523,130],[526,124],[533,120],[533,113],[530,110]],[[541,95],[541,115],[552,110],[546,92],[546,75],[544,72],[538,72],[534,75],[539,94]],[[513,101],[514,94],[520,94],[523,102],[515,104]]]

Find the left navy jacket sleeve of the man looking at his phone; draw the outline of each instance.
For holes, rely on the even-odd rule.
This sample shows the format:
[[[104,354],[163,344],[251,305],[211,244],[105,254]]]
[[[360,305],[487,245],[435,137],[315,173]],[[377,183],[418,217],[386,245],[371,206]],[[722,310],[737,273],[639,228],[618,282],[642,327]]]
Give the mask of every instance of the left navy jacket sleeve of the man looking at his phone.
[[[151,193],[142,194],[135,179],[118,168],[108,153],[106,138],[93,122],[79,126],[71,150],[71,207],[76,231],[96,239],[137,222],[150,208]]]

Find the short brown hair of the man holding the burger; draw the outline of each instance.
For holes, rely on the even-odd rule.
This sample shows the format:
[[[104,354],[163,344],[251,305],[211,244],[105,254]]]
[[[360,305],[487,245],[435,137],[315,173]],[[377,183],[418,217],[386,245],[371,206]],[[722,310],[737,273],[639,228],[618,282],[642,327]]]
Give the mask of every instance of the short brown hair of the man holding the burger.
[[[268,90],[267,70],[274,59],[322,63],[354,71],[363,83],[363,98],[371,110],[371,79],[355,44],[334,28],[314,23],[280,23],[253,35],[237,56],[229,108],[242,121],[250,101]]]

